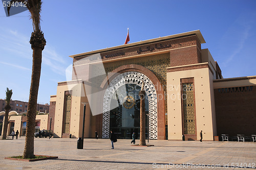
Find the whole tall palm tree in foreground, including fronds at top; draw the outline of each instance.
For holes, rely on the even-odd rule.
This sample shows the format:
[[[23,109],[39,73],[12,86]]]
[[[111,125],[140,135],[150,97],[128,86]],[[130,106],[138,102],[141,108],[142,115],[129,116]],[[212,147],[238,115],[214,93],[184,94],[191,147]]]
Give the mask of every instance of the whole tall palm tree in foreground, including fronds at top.
[[[24,158],[34,157],[34,132],[35,132],[35,117],[36,117],[36,103],[39,88],[39,80],[41,74],[41,62],[42,62],[42,50],[46,45],[44,33],[40,28],[40,13],[41,13],[41,0],[13,0],[10,3],[22,2],[27,4],[27,8],[30,12],[30,18],[32,19],[33,32],[30,38],[31,48],[33,50],[33,65],[32,76],[28,103],[28,115],[27,115],[27,130],[24,149]],[[8,8],[8,14],[11,6]]]

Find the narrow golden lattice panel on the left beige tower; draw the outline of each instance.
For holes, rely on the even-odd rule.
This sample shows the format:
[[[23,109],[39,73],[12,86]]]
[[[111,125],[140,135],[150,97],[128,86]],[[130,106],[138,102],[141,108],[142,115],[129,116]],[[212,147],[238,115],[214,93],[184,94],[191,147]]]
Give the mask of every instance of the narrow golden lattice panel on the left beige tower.
[[[71,94],[65,94],[65,110],[63,115],[62,133],[70,134]]]

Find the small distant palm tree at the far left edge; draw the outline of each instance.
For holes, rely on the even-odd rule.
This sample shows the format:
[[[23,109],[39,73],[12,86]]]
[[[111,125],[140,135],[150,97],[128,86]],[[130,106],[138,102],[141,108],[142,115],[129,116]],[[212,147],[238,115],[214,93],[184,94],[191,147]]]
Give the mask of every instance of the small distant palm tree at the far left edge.
[[[9,90],[8,87],[7,87],[5,92],[6,92],[5,122],[4,122],[4,129],[3,129],[2,139],[6,139],[6,135],[7,135],[7,128],[8,128],[8,123],[9,123],[8,116],[9,116],[9,111],[11,109],[10,102],[11,102],[11,97],[12,97],[12,90]]]

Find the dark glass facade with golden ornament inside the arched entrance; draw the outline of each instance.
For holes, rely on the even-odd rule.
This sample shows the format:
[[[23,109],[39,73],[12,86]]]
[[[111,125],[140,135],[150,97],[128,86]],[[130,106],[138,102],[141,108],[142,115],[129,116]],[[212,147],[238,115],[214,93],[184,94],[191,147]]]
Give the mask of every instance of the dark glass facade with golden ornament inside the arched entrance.
[[[135,132],[140,136],[140,98],[141,87],[136,84],[125,84],[116,89],[111,99],[110,129],[117,138],[131,139]],[[145,96],[145,114],[148,113],[148,99]],[[146,122],[146,138],[148,121]]]

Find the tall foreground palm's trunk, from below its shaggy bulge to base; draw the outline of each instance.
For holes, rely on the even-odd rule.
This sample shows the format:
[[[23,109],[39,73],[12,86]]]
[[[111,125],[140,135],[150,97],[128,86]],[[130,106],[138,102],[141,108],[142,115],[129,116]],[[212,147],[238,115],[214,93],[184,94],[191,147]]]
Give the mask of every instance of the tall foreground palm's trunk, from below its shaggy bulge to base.
[[[39,88],[41,62],[42,62],[42,48],[39,46],[32,46],[32,49],[33,49],[33,65],[32,65],[32,76],[31,76],[31,85],[30,85],[30,94],[29,94],[29,103],[28,103],[25,149],[23,154],[24,158],[34,157],[36,105],[37,105],[37,94],[38,94],[38,88]]]

